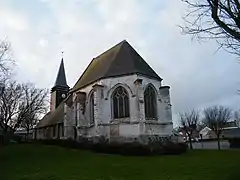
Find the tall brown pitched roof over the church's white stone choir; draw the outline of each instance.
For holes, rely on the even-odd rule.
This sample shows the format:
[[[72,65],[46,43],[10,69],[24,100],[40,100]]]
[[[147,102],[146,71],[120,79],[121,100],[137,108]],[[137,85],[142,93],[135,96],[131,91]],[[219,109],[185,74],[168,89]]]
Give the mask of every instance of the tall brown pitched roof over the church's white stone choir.
[[[124,40],[94,58],[74,85],[72,91],[103,78],[129,74],[141,74],[162,80],[135,49]]]

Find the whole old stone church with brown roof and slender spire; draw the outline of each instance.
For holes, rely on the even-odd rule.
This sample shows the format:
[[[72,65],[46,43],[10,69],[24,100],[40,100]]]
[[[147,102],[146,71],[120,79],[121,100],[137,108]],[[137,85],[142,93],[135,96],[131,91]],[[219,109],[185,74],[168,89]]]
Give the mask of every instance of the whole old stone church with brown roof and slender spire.
[[[70,89],[61,61],[35,138],[148,141],[172,135],[169,86],[126,41],[92,59]]]

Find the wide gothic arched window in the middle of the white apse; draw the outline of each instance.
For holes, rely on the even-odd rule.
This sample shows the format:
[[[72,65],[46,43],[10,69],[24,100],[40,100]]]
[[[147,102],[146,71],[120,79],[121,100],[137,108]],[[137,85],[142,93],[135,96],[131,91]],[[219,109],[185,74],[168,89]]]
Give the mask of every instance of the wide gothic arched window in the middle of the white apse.
[[[116,88],[112,94],[113,118],[129,117],[129,97],[122,86]]]

